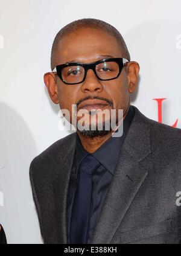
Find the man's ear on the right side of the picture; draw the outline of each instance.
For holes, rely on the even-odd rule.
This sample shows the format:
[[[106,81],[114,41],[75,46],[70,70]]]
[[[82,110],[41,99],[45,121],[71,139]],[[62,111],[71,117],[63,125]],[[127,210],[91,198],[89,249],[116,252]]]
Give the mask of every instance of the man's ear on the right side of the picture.
[[[139,64],[138,62],[127,63],[127,82],[129,92],[132,94],[138,85]]]

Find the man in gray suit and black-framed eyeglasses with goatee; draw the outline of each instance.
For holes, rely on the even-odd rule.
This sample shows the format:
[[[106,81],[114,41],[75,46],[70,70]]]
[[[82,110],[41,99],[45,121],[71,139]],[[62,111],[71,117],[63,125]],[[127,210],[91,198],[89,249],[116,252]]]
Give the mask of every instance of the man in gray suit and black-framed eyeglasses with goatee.
[[[139,64],[121,34],[97,19],[72,22],[54,40],[51,69],[44,75],[51,100],[70,120],[87,110],[90,129],[78,129],[77,115],[77,131],[31,162],[44,243],[179,243],[181,130],[130,105]],[[116,115],[105,115],[99,130],[94,111],[105,109]],[[107,130],[112,119],[118,126]],[[121,120],[123,134],[113,136]]]

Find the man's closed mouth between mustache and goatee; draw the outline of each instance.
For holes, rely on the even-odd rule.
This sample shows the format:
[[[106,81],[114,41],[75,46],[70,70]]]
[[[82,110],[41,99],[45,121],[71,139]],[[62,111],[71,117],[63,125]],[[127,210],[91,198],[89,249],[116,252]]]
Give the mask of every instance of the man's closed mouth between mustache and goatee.
[[[104,109],[106,106],[109,106],[105,101],[103,100],[85,100],[78,106],[78,109]]]

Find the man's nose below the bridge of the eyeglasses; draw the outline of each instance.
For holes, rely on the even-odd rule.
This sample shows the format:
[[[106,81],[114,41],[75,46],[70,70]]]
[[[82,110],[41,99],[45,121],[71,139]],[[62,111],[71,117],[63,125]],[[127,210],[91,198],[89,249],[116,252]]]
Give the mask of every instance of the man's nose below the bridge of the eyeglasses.
[[[82,92],[101,92],[103,91],[103,85],[101,81],[96,77],[92,69],[87,70],[86,79],[81,86]]]

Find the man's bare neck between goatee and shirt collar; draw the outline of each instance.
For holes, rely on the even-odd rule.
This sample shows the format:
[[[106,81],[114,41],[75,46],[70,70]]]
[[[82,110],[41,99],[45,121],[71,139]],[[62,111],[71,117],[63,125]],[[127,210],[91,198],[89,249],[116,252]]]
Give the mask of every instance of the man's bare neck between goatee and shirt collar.
[[[123,120],[124,120],[125,116],[127,115],[129,106],[127,107],[127,110],[125,112]],[[83,148],[89,153],[94,153],[99,147],[101,147],[101,145],[104,144],[104,142],[107,141],[107,139],[109,139],[112,136],[112,131],[102,137],[95,136],[94,138],[89,138],[88,136],[81,135],[81,133],[78,132],[78,130],[77,130],[77,133],[78,133],[78,136],[80,138]]]

